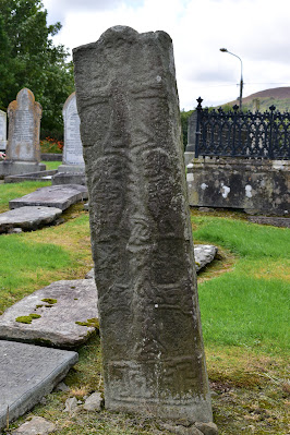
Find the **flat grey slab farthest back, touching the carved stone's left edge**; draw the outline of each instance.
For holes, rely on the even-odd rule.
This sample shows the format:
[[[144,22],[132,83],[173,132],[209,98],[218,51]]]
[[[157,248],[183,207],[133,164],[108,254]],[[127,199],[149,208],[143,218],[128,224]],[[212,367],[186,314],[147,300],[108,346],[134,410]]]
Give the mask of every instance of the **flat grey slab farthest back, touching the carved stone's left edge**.
[[[16,200],[9,202],[10,208],[24,206],[57,207],[61,210],[87,198],[87,189],[80,184],[51,185],[37,189]]]

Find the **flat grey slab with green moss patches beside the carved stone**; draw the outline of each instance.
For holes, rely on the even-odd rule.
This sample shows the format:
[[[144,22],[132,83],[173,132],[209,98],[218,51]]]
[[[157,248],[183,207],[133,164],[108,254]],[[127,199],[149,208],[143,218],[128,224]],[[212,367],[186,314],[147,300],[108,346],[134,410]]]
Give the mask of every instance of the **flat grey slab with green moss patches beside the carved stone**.
[[[57,301],[49,303],[49,300]],[[48,302],[44,301],[48,300]],[[20,316],[38,314],[31,324]],[[0,338],[73,348],[85,342],[95,327],[75,322],[97,318],[97,290],[93,279],[62,280],[22,299],[0,316]]]

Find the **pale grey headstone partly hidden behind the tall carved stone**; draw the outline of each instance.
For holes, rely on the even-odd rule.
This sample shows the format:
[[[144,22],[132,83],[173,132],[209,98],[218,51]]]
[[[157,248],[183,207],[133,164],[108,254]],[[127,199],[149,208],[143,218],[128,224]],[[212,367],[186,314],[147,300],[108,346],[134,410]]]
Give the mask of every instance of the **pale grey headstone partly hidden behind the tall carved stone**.
[[[64,123],[64,145],[62,165],[59,172],[84,172],[83,144],[80,133],[80,117],[76,109],[75,93],[71,94],[62,109]]]

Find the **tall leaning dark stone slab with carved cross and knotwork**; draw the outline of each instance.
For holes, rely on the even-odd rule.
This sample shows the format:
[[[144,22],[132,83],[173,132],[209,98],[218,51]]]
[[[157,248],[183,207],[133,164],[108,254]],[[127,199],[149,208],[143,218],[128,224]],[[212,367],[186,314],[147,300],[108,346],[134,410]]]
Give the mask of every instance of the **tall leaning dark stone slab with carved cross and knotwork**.
[[[212,421],[172,41],[116,26],[73,56],[106,408]]]

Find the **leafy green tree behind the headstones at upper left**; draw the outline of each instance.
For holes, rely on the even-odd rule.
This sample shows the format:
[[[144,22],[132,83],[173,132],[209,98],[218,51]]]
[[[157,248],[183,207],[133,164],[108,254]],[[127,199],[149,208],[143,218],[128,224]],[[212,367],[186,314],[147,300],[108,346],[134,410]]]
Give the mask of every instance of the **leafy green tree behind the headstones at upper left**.
[[[63,102],[74,90],[69,52],[51,39],[60,28],[47,24],[41,0],[0,0],[0,106],[28,87],[43,106],[43,133],[58,136]]]

